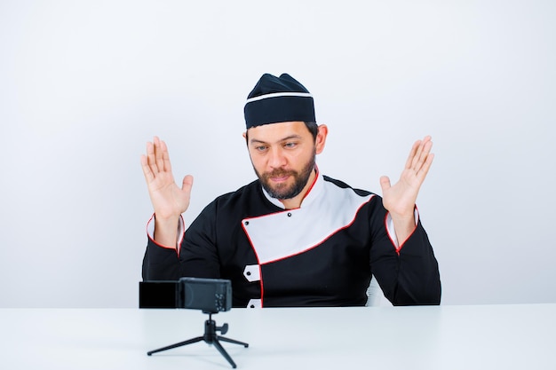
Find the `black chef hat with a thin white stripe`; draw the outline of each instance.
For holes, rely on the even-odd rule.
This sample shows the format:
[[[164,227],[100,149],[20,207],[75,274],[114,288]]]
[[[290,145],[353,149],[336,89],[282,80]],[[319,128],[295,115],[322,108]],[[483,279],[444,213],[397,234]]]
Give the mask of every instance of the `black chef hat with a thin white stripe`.
[[[247,129],[266,123],[316,122],[313,96],[288,74],[265,74],[250,92],[243,109]]]

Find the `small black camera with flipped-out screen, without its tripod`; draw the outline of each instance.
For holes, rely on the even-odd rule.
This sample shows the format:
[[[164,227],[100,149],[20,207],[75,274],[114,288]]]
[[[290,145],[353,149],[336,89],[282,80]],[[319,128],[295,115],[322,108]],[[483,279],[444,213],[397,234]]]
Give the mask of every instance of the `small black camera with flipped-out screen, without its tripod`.
[[[230,311],[232,282],[226,279],[202,278],[141,281],[139,308],[185,308],[207,313]]]

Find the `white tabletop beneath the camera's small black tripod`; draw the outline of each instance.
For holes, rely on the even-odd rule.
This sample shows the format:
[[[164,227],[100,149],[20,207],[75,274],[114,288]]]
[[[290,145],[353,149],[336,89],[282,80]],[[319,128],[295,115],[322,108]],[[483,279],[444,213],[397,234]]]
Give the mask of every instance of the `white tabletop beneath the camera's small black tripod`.
[[[230,369],[200,311],[0,309],[1,369]],[[556,304],[233,309],[238,369],[556,369]]]

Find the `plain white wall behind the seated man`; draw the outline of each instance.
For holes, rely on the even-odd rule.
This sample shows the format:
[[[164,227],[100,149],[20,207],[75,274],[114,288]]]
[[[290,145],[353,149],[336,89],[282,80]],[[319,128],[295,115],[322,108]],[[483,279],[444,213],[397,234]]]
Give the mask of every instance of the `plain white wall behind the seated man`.
[[[444,304],[556,302],[556,3],[0,1],[0,307],[136,307],[154,135],[190,221],[254,174],[263,73],[313,92],[322,172],[380,192],[433,136],[417,200]]]

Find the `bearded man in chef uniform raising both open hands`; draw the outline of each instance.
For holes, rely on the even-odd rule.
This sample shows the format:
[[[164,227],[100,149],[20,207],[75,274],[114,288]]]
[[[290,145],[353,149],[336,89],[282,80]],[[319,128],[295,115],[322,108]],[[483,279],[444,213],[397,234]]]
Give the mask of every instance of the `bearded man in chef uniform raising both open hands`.
[[[290,75],[263,75],[244,107],[258,179],[212,201],[187,231],[193,177],[174,183],[155,138],[141,164],[155,216],[143,279],[230,279],[234,307],[350,306],[367,302],[376,277],[394,305],[439,304],[438,264],[415,202],[431,167],[431,138],[412,147],[383,198],[323,176],[315,165],[328,129],[313,97]]]

